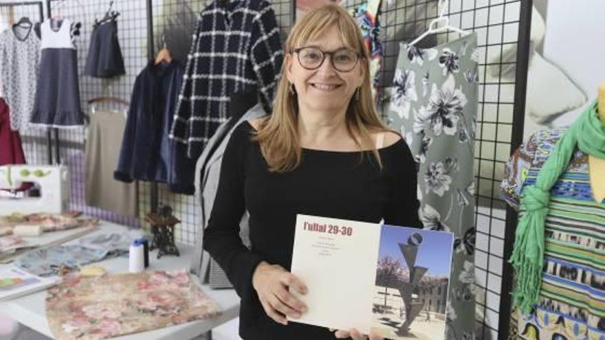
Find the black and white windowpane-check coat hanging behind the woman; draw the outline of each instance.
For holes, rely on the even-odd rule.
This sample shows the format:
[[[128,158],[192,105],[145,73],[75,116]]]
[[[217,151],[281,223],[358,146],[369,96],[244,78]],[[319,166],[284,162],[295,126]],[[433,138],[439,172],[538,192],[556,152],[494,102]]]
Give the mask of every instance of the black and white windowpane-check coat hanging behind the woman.
[[[170,137],[197,159],[228,119],[229,95],[258,89],[270,112],[283,52],[270,3],[217,0],[199,14]]]

